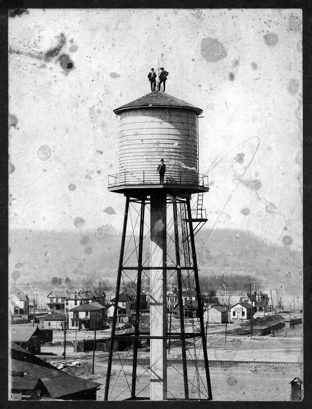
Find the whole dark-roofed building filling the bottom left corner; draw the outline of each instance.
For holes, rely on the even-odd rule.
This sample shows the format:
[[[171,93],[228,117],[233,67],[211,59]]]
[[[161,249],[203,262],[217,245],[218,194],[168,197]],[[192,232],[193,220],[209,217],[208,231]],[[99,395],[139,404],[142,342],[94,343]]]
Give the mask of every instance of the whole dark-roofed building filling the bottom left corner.
[[[100,383],[69,375],[11,344],[10,400],[97,400]]]

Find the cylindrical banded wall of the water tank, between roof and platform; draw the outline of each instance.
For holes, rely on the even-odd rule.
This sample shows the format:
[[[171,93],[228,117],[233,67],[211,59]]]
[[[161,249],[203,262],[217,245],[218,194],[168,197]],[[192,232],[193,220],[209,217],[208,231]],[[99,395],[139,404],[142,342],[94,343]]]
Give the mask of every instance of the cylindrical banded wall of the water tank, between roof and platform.
[[[133,108],[120,116],[119,183],[159,183],[161,158],[166,165],[165,183],[198,183],[194,110]]]

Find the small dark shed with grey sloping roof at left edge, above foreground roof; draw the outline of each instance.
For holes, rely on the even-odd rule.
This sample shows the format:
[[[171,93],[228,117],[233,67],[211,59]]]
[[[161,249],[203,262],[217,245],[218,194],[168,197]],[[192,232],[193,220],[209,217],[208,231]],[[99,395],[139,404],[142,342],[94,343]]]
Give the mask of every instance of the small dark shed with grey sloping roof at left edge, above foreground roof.
[[[40,354],[41,344],[46,342],[44,334],[37,326],[11,327],[11,341],[32,354]]]

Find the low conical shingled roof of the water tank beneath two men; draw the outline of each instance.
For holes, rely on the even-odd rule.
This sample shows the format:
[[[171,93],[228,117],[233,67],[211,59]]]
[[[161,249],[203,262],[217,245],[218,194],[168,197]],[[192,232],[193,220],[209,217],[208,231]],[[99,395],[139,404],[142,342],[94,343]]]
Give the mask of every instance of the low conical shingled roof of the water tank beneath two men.
[[[127,109],[151,108],[151,107],[154,107],[154,108],[174,107],[174,108],[182,108],[182,109],[191,109],[191,110],[196,111],[197,115],[200,115],[203,112],[202,109],[198,108],[197,106],[191,105],[186,101],[172,97],[171,95],[166,94],[161,91],[154,91],[134,101],[128,102],[128,104],[125,104],[123,106],[120,106],[119,108],[114,109],[114,113],[116,113],[116,115],[119,115],[122,111],[127,110]]]

